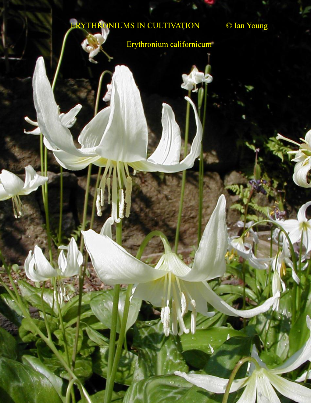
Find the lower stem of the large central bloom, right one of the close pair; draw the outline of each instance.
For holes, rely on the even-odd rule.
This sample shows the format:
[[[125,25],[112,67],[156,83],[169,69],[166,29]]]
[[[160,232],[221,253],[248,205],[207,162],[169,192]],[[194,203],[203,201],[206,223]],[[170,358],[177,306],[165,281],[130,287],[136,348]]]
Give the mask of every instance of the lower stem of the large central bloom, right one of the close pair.
[[[115,350],[115,357],[114,357],[114,360],[113,360],[113,365],[112,365],[111,373],[110,373],[110,376],[109,376],[108,387],[106,386],[106,391],[105,391],[105,401],[107,403],[111,402],[115,375],[117,373],[119,360],[120,360],[121,353],[122,353],[122,345],[123,345],[123,341],[125,339],[126,322],[128,320],[128,310],[130,308],[130,296],[131,296],[131,293],[132,293],[132,288],[133,288],[133,284],[129,284],[128,289],[126,291],[126,297],[125,297],[125,302],[124,302],[124,311],[123,311],[123,316],[122,316],[119,339],[118,339],[118,342],[117,342],[117,348]],[[109,347],[110,347],[110,345],[109,345]],[[107,380],[108,380],[108,376],[107,376]]]

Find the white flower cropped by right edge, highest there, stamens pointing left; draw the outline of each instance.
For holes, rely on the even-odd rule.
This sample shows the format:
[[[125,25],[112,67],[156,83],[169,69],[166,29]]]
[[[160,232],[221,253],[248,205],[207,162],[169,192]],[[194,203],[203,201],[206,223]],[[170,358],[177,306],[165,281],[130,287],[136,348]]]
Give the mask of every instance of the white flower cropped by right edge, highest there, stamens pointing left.
[[[302,141],[301,144],[297,143],[297,141],[288,139],[281,134],[278,134],[276,139],[286,140],[298,145],[299,150],[288,151],[288,154],[295,154],[295,158],[293,158],[292,161],[297,162],[292,179],[298,186],[311,187],[311,182],[308,180],[308,174],[311,170],[311,130],[307,131],[304,139],[300,139]]]

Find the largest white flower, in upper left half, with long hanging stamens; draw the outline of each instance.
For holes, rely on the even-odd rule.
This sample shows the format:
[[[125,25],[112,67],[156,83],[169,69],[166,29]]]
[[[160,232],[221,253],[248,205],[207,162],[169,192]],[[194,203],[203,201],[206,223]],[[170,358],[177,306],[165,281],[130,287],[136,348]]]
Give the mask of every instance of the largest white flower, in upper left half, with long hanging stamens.
[[[97,190],[97,212],[101,215],[107,185],[108,203],[112,202],[111,216],[116,222],[123,218],[125,205],[125,216],[128,217],[130,214],[132,179],[129,166],[136,171],[179,172],[191,168],[194,160],[200,155],[202,125],[194,103],[186,97],[194,110],[197,125],[190,153],[179,162],[180,129],[171,106],[163,104],[162,137],[153,154],[146,158],[147,122],[139,90],[126,66],[116,66],[112,76],[110,106],[101,110],[82,129],[78,137],[81,148],[76,148],[70,131],[60,122],[43,58],[37,60],[33,76],[33,96],[39,127],[49,143],[55,145],[53,153],[61,166],[70,170],[83,169],[90,163],[105,167]],[[117,214],[118,187],[119,214]]]

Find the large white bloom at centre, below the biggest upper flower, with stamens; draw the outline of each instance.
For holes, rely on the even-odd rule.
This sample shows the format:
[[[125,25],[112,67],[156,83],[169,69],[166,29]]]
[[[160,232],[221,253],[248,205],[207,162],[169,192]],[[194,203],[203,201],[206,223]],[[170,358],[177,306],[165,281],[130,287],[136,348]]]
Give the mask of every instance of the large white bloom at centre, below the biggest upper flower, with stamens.
[[[184,264],[167,243],[165,253],[153,268],[134,258],[108,236],[93,230],[82,233],[99,278],[109,285],[134,283],[134,297],[162,307],[161,320],[166,336],[170,328],[173,334],[189,332],[183,321],[188,310],[192,311],[191,332],[194,333],[197,312],[207,317],[214,315],[214,312],[208,312],[206,302],[226,315],[251,318],[266,312],[277,297],[269,298],[253,309],[241,311],[225,303],[208,285],[208,280],[222,276],[226,270],[224,255],[228,234],[224,195],[219,197],[206,225],[192,268]]]

